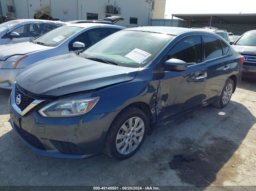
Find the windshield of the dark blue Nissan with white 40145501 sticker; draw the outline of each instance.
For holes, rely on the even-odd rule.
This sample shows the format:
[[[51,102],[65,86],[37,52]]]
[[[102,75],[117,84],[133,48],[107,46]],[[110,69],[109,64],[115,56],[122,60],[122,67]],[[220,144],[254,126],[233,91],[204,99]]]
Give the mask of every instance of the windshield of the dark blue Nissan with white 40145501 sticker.
[[[141,67],[152,60],[172,38],[171,35],[160,33],[119,31],[86,49],[81,56]]]

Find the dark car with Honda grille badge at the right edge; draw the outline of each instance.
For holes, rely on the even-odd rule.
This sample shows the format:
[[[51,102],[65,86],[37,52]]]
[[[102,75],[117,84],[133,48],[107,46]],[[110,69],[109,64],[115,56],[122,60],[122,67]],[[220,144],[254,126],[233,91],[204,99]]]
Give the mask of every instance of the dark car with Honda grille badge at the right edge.
[[[232,47],[244,56],[242,77],[256,80],[256,30],[244,33]]]

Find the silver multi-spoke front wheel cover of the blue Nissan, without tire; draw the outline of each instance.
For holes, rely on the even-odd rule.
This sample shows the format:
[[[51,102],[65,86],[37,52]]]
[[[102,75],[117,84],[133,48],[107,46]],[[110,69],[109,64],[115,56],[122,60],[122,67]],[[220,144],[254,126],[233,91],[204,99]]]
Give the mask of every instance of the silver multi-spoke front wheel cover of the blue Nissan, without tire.
[[[119,129],[116,136],[116,149],[120,154],[134,151],[144,136],[145,125],[141,118],[131,117]]]

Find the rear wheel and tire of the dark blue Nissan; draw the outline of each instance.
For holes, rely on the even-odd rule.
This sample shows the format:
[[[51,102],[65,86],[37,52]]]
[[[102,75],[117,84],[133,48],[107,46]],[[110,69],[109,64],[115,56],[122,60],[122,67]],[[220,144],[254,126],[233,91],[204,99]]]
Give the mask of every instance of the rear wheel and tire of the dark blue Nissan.
[[[230,89],[231,88],[231,89]],[[226,91],[228,90],[228,94],[226,94]],[[234,82],[232,79],[228,79],[226,84],[224,85],[224,88],[221,92],[221,95],[217,98],[216,101],[212,103],[213,106],[218,108],[226,107],[231,99],[232,93],[234,90]],[[226,98],[224,97],[226,95]],[[230,96],[230,97],[229,97]],[[224,99],[224,101],[223,101]]]

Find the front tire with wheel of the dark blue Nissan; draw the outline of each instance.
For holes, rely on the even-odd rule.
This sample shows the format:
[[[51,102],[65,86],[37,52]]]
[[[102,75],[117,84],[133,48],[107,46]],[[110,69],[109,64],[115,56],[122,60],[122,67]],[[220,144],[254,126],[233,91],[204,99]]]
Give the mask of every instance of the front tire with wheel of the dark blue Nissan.
[[[147,134],[148,124],[145,113],[137,107],[123,109],[108,130],[104,153],[117,160],[131,157],[141,147]]]

